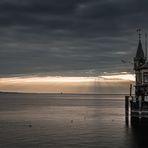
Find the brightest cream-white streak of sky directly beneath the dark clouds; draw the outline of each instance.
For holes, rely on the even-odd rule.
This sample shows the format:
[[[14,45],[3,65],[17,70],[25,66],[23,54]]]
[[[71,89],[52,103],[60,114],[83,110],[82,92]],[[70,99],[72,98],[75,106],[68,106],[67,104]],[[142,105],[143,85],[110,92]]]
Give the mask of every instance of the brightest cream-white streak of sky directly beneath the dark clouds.
[[[47,82],[93,82],[93,81],[135,81],[133,74],[113,74],[98,77],[26,76],[0,78],[0,83],[47,83]]]

